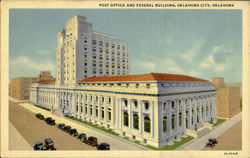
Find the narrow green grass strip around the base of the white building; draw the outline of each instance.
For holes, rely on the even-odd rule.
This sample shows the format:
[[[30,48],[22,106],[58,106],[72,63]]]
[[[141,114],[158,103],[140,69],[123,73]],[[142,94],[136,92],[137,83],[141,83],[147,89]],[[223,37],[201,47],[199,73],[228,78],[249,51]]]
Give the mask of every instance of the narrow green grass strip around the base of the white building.
[[[119,138],[125,139],[125,140],[127,140],[127,141],[129,141],[129,142],[132,142],[132,143],[141,145],[141,146],[146,147],[146,148],[148,148],[148,149],[150,149],[150,150],[175,150],[175,149],[177,149],[178,147],[180,147],[181,145],[183,145],[183,144],[185,144],[185,143],[191,141],[192,139],[194,139],[193,137],[188,136],[187,138],[181,138],[181,141],[179,141],[179,142],[174,141],[172,145],[165,145],[165,146],[163,146],[163,147],[161,147],[161,148],[156,148],[156,147],[153,147],[153,146],[151,146],[151,145],[144,145],[144,144],[141,144],[140,141],[138,141],[138,140],[132,141],[132,140],[130,140],[128,137],[121,137],[118,133],[115,133],[114,131],[112,131],[112,129],[106,129],[106,128],[104,128],[104,127],[100,127],[100,126],[98,126],[98,125],[94,125],[94,124],[92,124],[92,123],[89,123],[89,122],[87,122],[87,121],[83,121],[83,120],[74,118],[74,117],[72,117],[72,116],[65,116],[65,117],[67,117],[67,118],[69,118],[69,119],[72,119],[72,120],[75,120],[75,121],[77,121],[77,122],[83,123],[83,124],[85,124],[85,125],[87,125],[87,126],[90,126],[90,127],[96,128],[96,129],[99,129],[99,130],[104,131],[104,132],[106,132],[106,133],[112,134],[112,135],[117,136],[117,137],[119,137]]]

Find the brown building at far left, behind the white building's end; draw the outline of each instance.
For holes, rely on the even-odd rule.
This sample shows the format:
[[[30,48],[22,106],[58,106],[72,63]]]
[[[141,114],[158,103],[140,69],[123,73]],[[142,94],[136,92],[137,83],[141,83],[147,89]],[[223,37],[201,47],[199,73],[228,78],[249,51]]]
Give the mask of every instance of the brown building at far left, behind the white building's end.
[[[47,79],[53,79],[49,71],[41,71],[38,77],[11,78],[9,95],[19,100],[28,100],[30,96],[30,85],[37,81]]]

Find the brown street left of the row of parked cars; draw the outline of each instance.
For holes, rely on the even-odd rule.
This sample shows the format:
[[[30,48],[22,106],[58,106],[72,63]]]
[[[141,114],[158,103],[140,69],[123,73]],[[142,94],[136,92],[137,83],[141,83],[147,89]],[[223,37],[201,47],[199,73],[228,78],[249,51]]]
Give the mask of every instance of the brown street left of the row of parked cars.
[[[31,146],[50,137],[57,150],[96,150],[95,147],[82,143],[75,137],[57,129],[56,126],[47,125],[45,121],[37,119],[34,113],[18,104],[10,102],[9,105],[10,122]]]

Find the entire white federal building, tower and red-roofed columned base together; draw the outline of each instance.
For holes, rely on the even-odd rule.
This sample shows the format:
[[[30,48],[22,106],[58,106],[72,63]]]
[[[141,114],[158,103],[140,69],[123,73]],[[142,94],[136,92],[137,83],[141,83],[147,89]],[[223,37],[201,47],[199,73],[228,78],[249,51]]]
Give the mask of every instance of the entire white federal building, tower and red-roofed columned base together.
[[[75,16],[58,34],[56,80],[33,84],[30,101],[154,147],[216,122],[216,87],[211,82],[129,71],[129,44],[93,32],[85,17]]]

